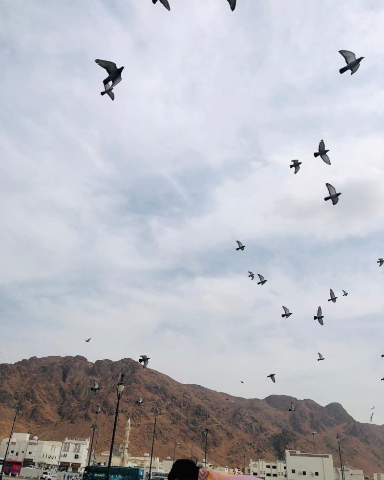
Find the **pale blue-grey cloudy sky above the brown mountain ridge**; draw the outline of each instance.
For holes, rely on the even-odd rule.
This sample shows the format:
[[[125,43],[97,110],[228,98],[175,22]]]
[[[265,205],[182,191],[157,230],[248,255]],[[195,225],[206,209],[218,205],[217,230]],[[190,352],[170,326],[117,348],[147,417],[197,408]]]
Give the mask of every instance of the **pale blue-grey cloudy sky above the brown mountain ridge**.
[[[383,424],[384,5],[237,3],[3,1],[0,361],[145,354]]]

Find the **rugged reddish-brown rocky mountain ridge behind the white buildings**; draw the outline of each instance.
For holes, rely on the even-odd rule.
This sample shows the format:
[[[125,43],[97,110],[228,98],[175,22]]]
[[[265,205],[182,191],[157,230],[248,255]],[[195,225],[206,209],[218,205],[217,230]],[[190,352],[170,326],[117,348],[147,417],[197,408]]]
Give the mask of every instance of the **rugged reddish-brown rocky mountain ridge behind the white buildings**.
[[[208,460],[221,465],[242,465],[243,445],[254,442],[255,452],[247,458],[284,459],[286,448],[312,452],[312,431],[316,451],[331,453],[338,465],[337,432],[342,437],[346,466],[362,468],[365,474],[384,470],[384,425],[356,422],[338,403],[325,407],[312,400],[286,396],[259,399],[231,397],[200,385],[183,385],[132,359],[117,362],[89,362],[76,357],[32,357],[0,364],[0,438],[8,437],[13,420],[12,403],[22,399],[23,411],[15,431],[37,434],[40,439],[66,436],[89,437],[97,403],[99,440],[97,451],[109,449],[116,408],[116,384],[125,373],[125,391],[120,403],[116,442],[124,440],[130,417],[130,451],[151,452],[154,414],[158,417],[154,454],[176,457],[204,457],[204,430],[208,425]],[[100,390],[90,386],[96,379]],[[138,397],[143,399],[136,405]],[[288,412],[290,402],[296,411]],[[248,447],[250,448],[250,447]]]

